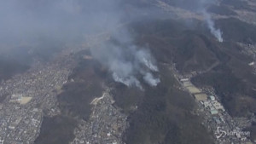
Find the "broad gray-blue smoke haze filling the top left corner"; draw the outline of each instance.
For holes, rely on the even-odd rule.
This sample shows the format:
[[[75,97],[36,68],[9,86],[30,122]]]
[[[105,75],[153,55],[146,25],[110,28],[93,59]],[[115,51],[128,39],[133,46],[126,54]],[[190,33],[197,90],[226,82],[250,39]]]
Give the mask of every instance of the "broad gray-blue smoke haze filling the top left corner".
[[[2,0],[1,42],[77,41],[119,23],[118,5],[119,0]]]

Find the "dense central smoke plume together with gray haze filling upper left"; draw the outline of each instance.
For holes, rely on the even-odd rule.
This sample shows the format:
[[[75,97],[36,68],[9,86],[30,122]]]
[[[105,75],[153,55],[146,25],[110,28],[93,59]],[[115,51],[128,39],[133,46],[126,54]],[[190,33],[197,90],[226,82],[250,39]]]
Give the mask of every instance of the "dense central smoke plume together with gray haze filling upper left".
[[[149,51],[138,48],[133,43],[133,38],[125,30],[125,26],[122,28],[124,31],[113,32],[124,21],[128,21],[127,17],[136,19],[135,14],[130,14],[131,10],[140,12],[138,14],[142,14],[144,10],[127,2],[129,1],[2,0],[0,50],[6,49],[8,45],[15,47],[20,43],[38,43],[42,37],[44,42],[40,44],[43,44],[44,50],[44,43],[49,43],[48,40],[73,45],[83,43],[87,36],[110,32],[114,42],[91,48],[92,55],[103,66],[108,67],[116,82],[143,89],[139,80],[143,79],[147,84],[156,86],[160,79],[154,78],[152,72],[158,72],[158,68]]]

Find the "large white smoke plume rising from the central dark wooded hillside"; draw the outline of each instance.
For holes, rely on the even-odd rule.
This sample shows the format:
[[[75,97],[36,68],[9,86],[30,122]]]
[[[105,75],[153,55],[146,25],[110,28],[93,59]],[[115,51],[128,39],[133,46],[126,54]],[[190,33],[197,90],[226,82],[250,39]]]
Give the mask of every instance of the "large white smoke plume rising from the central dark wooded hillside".
[[[90,51],[102,65],[108,67],[114,81],[139,89],[143,89],[139,80],[141,77],[150,86],[160,83],[160,78],[154,78],[153,74],[158,72],[158,67],[147,49],[134,45],[128,32],[119,32],[113,38],[118,44],[108,41]]]

